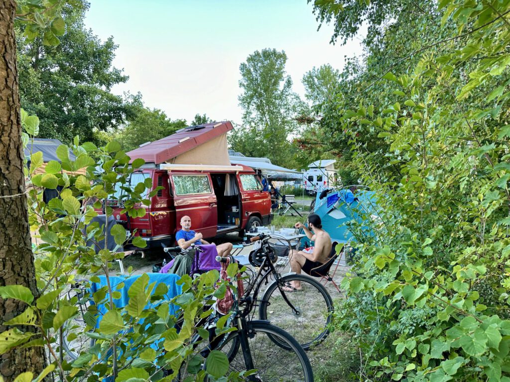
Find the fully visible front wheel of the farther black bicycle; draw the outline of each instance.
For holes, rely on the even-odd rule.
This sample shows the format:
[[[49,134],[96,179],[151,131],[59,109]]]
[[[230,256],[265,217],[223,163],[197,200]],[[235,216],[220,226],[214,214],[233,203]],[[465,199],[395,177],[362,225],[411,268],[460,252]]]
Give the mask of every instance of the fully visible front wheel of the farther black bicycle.
[[[284,291],[293,290],[291,285],[295,283],[300,284],[299,290]],[[297,274],[283,276],[279,283],[269,285],[259,307],[261,320],[269,320],[288,332],[304,350],[326,339],[332,315],[333,300],[327,290],[311,277]]]

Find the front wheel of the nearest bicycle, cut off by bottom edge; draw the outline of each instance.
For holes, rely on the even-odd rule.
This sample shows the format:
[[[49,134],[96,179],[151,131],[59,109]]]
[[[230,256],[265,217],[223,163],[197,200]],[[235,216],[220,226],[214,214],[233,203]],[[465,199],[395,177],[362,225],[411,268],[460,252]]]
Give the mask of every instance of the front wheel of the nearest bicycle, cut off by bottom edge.
[[[253,367],[256,373],[246,381],[313,382],[313,372],[307,353],[289,333],[263,321],[247,322],[246,330],[232,332],[215,350],[223,351],[230,360],[228,374],[247,370],[240,336],[246,335]],[[284,343],[285,348],[274,343]],[[233,351],[236,349],[236,351]],[[227,375],[228,375],[227,374]]]

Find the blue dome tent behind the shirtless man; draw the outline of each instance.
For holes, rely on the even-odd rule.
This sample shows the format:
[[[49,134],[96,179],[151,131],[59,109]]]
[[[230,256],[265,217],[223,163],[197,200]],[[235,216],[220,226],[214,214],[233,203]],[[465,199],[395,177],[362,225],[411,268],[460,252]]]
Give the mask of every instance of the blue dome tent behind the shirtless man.
[[[375,194],[368,190],[342,188],[327,193],[320,199],[316,197],[314,213],[319,215],[322,228],[329,233],[332,241],[346,243],[356,241],[349,230],[349,223],[361,228],[361,235],[373,236],[373,223],[378,219]],[[301,239],[301,245],[307,247],[308,238]]]

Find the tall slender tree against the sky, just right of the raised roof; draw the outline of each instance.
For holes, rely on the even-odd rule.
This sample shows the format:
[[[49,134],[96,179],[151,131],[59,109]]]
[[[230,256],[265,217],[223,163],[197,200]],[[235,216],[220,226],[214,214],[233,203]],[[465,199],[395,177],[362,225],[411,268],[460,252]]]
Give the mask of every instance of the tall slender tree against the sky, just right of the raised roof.
[[[231,134],[233,149],[246,155],[266,156],[277,165],[292,166],[289,134],[299,97],[292,92],[292,80],[285,71],[287,54],[276,49],[255,51],[239,67],[243,93],[244,127]]]

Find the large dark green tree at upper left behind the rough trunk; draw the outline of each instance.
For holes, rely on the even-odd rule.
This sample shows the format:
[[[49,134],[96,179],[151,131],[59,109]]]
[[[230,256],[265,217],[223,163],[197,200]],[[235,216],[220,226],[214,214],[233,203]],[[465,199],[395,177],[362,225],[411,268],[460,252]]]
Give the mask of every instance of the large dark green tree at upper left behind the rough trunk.
[[[117,45],[112,37],[101,42],[85,27],[89,4],[77,3],[78,7],[67,5],[60,11],[66,31],[60,44],[47,45],[41,35],[32,41],[18,37],[21,106],[40,118],[41,138],[65,143],[77,134],[96,141],[95,131],[119,126],[132,112],[110,91],[128,78],[112,66]]]

